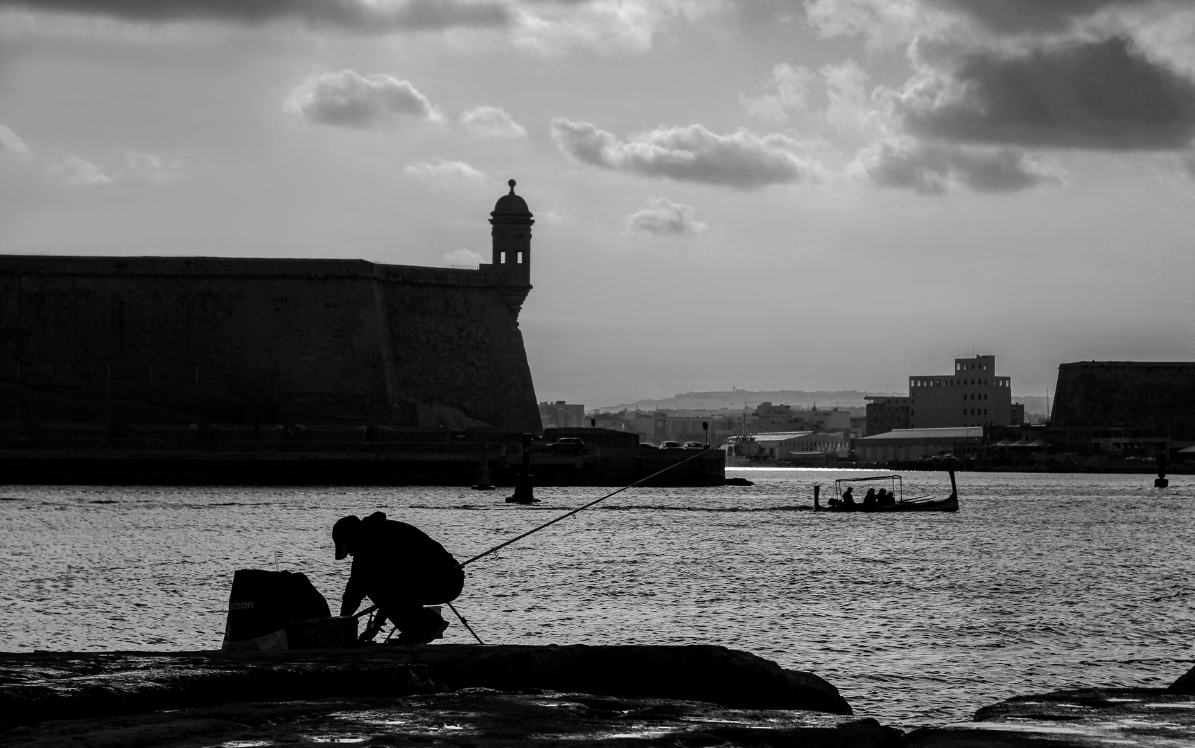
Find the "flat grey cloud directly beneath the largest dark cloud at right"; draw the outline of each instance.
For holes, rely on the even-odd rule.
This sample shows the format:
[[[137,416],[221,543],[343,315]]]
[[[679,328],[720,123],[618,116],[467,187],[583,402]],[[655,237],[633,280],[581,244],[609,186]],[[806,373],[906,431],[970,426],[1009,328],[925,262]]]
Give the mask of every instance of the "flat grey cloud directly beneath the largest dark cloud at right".
[[[863,149],[852,165],[880,186],[940,195],[957,188],[1012,192],[1061,184],[1060,166],[1012,148],[969,148],[913,140],[882,140]]]

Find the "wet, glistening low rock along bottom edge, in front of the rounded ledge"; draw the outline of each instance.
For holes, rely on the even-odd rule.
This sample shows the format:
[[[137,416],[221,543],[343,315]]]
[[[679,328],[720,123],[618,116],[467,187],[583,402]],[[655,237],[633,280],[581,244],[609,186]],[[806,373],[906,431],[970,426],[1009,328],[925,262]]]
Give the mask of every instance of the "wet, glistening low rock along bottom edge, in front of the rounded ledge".
[[[897,748],[875,719],[783,710],[734,710],[651,698],[467,688],[403,699],[327,699],[154,712],[24,726],[0,744],[200,748],[353,742],[370,746],[804,746]]]

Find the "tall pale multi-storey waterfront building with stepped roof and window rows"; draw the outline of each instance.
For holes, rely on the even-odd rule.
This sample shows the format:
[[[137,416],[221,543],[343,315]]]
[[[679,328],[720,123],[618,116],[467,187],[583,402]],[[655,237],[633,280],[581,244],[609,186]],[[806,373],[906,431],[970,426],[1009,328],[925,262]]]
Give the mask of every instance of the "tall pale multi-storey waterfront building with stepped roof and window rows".
[[[955,358],[952,374],[909,376],[911,429],[1012,423],[1012,390],[995,375],[995,356]]]

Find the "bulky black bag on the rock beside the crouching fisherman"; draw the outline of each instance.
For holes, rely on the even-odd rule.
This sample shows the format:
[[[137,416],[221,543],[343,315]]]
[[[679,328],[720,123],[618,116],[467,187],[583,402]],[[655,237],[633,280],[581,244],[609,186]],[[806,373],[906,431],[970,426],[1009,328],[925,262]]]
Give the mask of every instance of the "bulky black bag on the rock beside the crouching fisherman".
[[[287,649],[288,623],[330,615],[327,601],[307,575],[238,569],[228,596],[222,649]]]

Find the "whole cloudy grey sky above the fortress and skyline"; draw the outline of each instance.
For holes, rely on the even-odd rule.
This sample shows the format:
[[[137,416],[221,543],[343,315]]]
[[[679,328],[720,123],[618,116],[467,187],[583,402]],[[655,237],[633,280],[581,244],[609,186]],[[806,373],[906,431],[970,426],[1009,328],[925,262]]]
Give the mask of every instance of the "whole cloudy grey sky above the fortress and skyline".
[[[1189,0],[0,0],[0,252],[489,257],[541,400],[1195,360]]]

